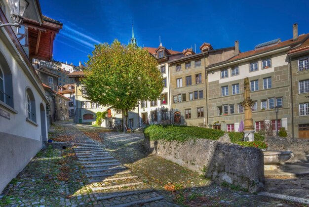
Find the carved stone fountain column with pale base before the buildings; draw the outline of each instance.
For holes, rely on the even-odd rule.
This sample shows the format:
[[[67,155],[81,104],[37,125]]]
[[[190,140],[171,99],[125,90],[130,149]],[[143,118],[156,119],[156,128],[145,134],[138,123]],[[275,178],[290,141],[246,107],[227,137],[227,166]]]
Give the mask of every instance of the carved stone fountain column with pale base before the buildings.
[[[250,98],[250,84],[249,78],[244,79],[244,93],[243,93],[244,101],[240,104],[244,107],[245,110],[245,121],[244,121],[244,138],[245,141],[254,141],[254,126],[252,119],[252,106],[254,105],[254,101]]]

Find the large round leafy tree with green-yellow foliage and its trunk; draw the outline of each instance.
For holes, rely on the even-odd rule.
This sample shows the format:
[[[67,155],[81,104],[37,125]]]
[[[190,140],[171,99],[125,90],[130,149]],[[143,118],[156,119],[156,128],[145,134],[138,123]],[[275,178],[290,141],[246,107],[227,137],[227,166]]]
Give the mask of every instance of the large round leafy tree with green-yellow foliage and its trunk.
[[[149,52],[115,40],[95,45],[88,56],[81,83],[84,97],[103,106],[122,110],[127,124],[128,111],[141,100],[154,100],[163,90],[157,62]]]

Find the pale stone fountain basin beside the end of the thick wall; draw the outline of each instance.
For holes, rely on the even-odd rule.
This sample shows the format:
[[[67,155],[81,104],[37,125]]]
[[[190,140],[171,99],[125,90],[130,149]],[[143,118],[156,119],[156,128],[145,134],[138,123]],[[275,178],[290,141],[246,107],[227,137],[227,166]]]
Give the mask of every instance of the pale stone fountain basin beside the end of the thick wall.
[[[292,151],[265,151],[264,165],[277,165],[288,161],[292,157]]]

